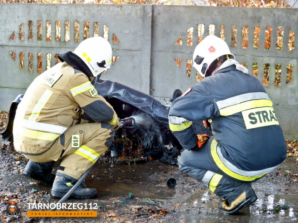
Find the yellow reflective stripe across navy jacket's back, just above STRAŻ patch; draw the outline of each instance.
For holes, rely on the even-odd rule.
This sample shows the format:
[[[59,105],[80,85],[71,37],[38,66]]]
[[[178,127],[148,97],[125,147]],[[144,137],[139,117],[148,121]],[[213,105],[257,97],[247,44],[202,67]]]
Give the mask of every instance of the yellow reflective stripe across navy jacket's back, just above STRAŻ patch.
[[[267,99],[250,100],[223,109],[219,109],[219,112],[221,116],[228,116],[252,108],[272,107],[272,105],[272,101]]]

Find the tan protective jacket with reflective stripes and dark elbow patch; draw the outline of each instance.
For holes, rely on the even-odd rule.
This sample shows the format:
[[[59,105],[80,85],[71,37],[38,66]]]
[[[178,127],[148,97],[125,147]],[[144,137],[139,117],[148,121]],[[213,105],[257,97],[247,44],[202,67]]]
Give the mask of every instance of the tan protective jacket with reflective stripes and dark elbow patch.
[[[39,75],[18,105],[14,126],[15,150],[27,155],[44,153],[70,126],[82,108],[95,122],[119,127],[112,106],[97,94],[88,77],[66,62]]]

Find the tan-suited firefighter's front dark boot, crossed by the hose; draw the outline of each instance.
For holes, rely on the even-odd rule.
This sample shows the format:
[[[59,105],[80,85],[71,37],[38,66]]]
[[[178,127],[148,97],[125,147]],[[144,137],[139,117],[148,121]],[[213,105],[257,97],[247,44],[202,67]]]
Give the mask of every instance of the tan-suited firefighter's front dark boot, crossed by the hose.
[[[72,189],[75,185],[75,181],[69,180],[63,176],[56,175],[56,178],[52,187],[52,197],[64,197],[64,195]],[[85,184],[80,184],[80,186],[75,189],[72,193],[71,197],[75,197],[77,199],[86,199],[86,198],[94,198],[97,195],[97,191],[95,188],[88,188]]]

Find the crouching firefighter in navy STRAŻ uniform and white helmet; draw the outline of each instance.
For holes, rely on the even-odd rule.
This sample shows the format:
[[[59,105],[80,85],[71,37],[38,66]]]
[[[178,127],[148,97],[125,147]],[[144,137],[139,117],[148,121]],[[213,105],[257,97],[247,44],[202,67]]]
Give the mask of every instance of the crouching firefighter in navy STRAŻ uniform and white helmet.
[[[179,169],[223,199],[219,211],[234,213],[257,200],[252,182],[285,160],[283,131],[263,85],[235,61],[224,40],[207,36],[193,60],[205,78],[169,111],[170,129],[185,149]],[[212,137],[195,134],[191,121],[200,120]]]

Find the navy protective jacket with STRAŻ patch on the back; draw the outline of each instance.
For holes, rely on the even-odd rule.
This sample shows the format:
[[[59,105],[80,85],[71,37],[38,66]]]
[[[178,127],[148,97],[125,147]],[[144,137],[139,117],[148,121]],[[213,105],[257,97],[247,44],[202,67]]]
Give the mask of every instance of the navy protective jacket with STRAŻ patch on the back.
[[[258,171],[285,160],[283,131],[273,103],[256,77],[231,65],[189,90],[173,101],[169,111],[170,129],[184,149],[197,143],[191,121],[211,119],[223,160],[235,167]]]

